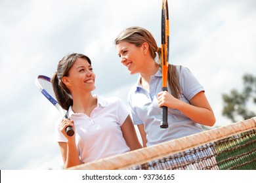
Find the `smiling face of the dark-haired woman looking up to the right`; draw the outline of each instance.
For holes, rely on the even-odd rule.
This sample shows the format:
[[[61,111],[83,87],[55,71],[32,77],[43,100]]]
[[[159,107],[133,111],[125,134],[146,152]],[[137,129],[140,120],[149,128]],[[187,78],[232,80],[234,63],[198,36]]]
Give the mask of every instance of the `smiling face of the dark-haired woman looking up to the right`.
[[[68,71],[68,76],[62,78],[71,93],[91,92],[95,90],[95,73],[87,59],[77,58]]]

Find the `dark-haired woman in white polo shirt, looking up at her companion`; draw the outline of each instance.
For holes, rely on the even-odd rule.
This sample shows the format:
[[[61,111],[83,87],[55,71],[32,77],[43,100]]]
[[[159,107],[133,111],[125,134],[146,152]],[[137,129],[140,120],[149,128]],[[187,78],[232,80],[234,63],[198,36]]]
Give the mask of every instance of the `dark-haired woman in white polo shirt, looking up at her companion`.
[[[69,54],[52,78],[56,99],[69,119],[58,122],[56,141],[64,167],[72,167],[141,148],[129,111],[117,97],[105,99],[95,90],[91,59]],[[66,134],[71,126],[75,134]]]

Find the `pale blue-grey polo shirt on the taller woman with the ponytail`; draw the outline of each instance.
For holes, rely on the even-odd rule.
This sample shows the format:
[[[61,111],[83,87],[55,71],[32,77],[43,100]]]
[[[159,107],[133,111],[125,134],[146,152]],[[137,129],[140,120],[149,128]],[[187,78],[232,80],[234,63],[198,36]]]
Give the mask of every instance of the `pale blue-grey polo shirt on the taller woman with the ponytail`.
[[[204,91],[202,85],[186,67],[177,67],[177,75],[181,86],[181,100],[189,103],[198,92]],[[161,92],[162,74],[158,70],[150,78],[150,93],[140,85],[140,76],[137,84],[131,88],[128,102],[135,125],[144,124],[147,146],[171,141],[180,137],[203,131],[200,124],[190,120],[179,110],[168,108],[167,129],[161,129],[161,108],[158,107],[158,93]],[[169,86],[168,86],[169,90]],[[170,92],[170,91],[169,91]]]

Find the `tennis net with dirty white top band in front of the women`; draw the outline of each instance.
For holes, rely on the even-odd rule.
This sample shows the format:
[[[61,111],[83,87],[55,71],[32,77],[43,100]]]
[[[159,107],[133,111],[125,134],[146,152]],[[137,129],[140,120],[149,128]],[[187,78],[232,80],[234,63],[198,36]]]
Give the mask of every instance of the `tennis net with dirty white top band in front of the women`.
[[[70,169],[256,169],[256,117]]]

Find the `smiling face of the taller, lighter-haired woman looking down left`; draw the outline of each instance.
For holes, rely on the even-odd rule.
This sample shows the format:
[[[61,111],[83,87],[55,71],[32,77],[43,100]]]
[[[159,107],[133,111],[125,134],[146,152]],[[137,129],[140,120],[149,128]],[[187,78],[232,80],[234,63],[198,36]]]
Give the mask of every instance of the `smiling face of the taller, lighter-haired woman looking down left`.
[[[119,42],[116,44],[117,53],[121,58],[121,63],[130,71],[130,74],[140,73],[144,67],[143,46],[137,47],[129,42]]]

